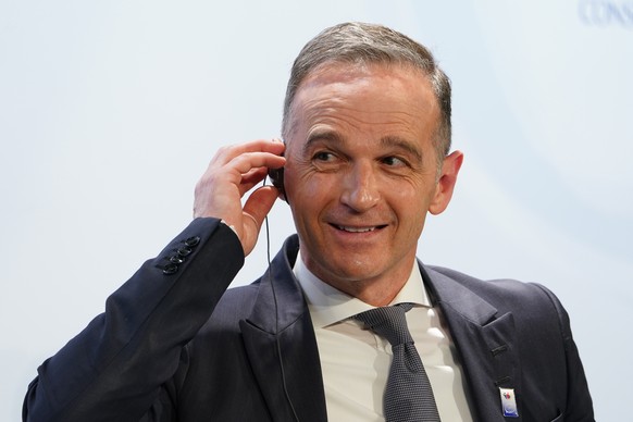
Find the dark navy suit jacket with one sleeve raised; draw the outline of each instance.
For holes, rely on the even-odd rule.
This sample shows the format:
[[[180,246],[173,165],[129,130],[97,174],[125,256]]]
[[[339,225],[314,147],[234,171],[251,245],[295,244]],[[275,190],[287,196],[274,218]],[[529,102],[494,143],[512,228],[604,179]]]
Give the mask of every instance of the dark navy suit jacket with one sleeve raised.
[[[241,246],[218,220],[195,220],[38,369],[24,420],[325,421],[314,331],[291,272],[297,250],[290,237],[259,281],[226,290]],[[551,293],[421,270],[477,421],[506,420],[499,387],[516,392],[516,421],[594,420],[568,315]]]

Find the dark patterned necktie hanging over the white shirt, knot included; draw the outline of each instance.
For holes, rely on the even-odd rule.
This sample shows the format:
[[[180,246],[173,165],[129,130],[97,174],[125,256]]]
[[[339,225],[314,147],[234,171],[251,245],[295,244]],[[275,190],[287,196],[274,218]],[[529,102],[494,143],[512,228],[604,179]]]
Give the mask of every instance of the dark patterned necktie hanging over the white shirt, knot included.
[[[413,303],[375,308],[355,318],[392,344],[394,360],[385,387],[387,422],[439,422],[433,389],[407,327],[405,312]]]

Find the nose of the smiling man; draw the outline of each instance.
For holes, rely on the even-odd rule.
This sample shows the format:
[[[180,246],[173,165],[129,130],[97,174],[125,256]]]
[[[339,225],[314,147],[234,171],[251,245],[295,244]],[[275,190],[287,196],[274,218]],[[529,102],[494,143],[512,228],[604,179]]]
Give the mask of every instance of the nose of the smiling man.
[[[355,163],[342,181],[340,201],[357,212],[368,211],[380,200],[380,189],[370,163]]]

